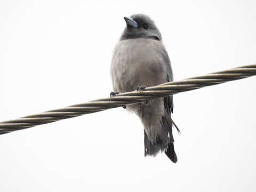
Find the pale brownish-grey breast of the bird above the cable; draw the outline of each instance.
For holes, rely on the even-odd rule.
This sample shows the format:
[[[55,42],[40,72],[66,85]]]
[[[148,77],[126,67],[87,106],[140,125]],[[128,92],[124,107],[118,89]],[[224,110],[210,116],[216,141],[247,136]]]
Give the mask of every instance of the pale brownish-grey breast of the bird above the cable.
[[[117,43],[111,62],[113,89],[133,91],[138,85],[165,83],[162,42],[154,39],[126,39]]]

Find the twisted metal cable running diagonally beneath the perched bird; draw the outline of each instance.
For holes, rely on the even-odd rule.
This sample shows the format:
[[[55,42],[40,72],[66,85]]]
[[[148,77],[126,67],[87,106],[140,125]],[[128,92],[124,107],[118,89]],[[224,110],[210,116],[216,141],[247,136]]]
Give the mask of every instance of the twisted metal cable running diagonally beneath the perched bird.
[[[141,92],[132,91],[119,93],[113,98],[97,99],[78,105],[46,111],[41,114],[29,115],[10,121],[0,122],[0,134],[27,129],[36,125],[52,123],[61,119],[166,97],[167,95],[200,89],[205,86],[217,85],[254,75],[256,75],[256,64],[147,87],[145,91]]]

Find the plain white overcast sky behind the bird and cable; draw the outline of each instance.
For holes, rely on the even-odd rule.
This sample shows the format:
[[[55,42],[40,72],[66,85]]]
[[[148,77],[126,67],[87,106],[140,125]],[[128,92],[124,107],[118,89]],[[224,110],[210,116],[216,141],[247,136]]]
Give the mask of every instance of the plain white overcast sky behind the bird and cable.
[[[109,97],[124,16],[161,30],[175,80],[256,62],[255,1],[1,1],[0,121]],[[255,191],[256,77],[174,96],[178,163],[123,108],[0,135],[0,191]]]

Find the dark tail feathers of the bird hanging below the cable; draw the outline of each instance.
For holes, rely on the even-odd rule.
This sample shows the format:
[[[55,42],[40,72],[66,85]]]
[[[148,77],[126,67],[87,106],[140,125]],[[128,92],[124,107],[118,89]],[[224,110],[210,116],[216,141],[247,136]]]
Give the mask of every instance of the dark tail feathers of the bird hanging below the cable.
[[[172,134],[172,126],[177,127],[171,119],[171,116],[165,114],[159,119],[161,122],[160,127],[156,127],[156,129],[160,129],[158,131],[157,137],[154,142],[152,142],[146,131],[144,130],[144,145],[145,145],[145,156],[155,156],[159,151],[165,152],[167,157],[171,159],[173,163],[177,162],[177,155],[174,150],[174,139]],[[179,132],[179,129],[177,127]]]

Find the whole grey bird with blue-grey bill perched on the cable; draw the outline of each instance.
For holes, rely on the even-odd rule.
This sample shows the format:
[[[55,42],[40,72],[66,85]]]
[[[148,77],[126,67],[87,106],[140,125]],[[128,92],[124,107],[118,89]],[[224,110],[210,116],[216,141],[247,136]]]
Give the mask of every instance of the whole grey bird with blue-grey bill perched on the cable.
[[[154,21],[145,14],[134,14],[124,20],[126,28],[111,61],[114,92],[110,96],[173,81],[171,62]],[[144,126],[145,156],[164,151],[176,163],[172,134],[175,124],[171,118],[173,97],[129,105],[126,109],[137,114]]]

